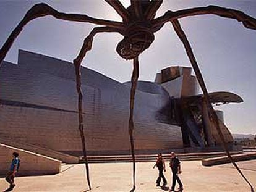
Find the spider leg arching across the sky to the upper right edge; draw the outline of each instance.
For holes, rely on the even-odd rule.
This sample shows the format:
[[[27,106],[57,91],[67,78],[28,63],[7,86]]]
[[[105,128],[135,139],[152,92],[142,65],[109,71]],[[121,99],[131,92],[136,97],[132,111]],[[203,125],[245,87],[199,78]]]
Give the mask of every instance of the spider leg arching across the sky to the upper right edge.
[[[175,12],[168,10],[163,16],[156,18],[152,21],[153,25],[162,25],[168,21],[180,19],[182,17],[189,17],[195,15],[213,14],[220,17],[227,17],[236,19],[242,22],[244,27],[256,30],[256,19],[250,17],[240,10],[228,9],[219,6],[196,7],[191,9],[177,10]]]

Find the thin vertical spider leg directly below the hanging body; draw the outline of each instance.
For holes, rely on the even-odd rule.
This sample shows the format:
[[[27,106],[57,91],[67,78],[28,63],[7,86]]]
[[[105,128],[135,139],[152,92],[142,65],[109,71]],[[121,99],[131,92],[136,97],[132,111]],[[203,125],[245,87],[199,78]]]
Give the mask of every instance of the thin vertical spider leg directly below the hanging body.
[[[139,59],[135,57],[134,59],[134,69],[132,71],[132,87],[130,88],[130,118],[129,118],[129,135],[130,135],[130,149],[132,152],[132,166],[133,166],[133,188],[131,191],[135,190],[135,152],[134,152],[134,98],[137,86],[137,81],[139,78]],[[130,191],[130,192],[131,192]]]

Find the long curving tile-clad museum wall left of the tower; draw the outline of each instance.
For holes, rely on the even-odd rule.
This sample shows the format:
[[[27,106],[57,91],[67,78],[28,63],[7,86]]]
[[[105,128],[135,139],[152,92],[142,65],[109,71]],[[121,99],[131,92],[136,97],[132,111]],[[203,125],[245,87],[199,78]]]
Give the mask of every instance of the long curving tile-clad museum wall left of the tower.
[[[0,99],[9,101],[0,106],[0,137],[72,154],[81,151],[72,64],[20,51],[19,65],[2,64],[0,88]],[[129,151],[130,86],[82,68],[82,91],[88,151]],[[181,128],[156,121],[158,111],[168,105],[166,94],[137,90],[137,150],[182,148]]]

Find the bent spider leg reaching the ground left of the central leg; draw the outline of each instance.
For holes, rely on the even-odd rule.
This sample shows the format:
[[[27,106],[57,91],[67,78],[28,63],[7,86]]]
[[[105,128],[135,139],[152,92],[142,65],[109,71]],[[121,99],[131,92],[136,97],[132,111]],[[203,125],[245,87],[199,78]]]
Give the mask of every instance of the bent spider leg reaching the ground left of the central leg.
[[[88,166],[88,159],[87,159],[87,151],[86,151],[86,143],[85,143],[85,135],[83,132],[83,115],[82,115],[82,100],[83,100],[83,94],[81,90],[81,72],[80,67],[81,63],[83,61],[83,58],[87,54],[88,51],[92,49],[92,41],[93,37],[97,33],[104,33],[104,32],[117,32],[115,28],[111,27],[95,27],[90,32],[90,34],[85,38],[83,41],[83,46],[80,49],[79,55],[74,59],[73,63],[75,66],[75,77],[76,77],[76,87],[77,87],[77,94],[78,94],[78,109],[79,109],[79,131],[80,131],[80,137],[82,141],[82,149],[83,149],[83,158],[85,159],[85,167],[86,167],[86,173],[87,173],[87,183],[89,186],[89,189],[91,190],[91,184],[90,184],[90,174],[89,174],[89,166]]]

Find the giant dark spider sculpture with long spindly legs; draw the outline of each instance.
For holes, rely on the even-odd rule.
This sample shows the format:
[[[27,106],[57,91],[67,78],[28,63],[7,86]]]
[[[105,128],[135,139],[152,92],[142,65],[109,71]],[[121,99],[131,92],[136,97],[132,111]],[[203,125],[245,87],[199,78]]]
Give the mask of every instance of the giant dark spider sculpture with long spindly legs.
[[[117,14],[122,17],[122,22],[114,22],[110,20],[104,19],[96,19],[93,17],[89,17],[85,14],[66,14],[64,12],[59,12],[58,10],[53,9],[51,6],[47,4],[40,3],[33,6],[28,12],[25,14],[21,22],[14,28],[11,35],[7,38],[6,42],[2,46],[0,50],[0,63],[4,60],[7,52],[14,43],[14,40],[22,31],[23,27],[27,25],[33,19],[38,17],[45,17],[47,15],[51,15],[56,19],[61,20],[69,20],[72,22],[83,22],[83,23],[93,23],[96,25],[101,25],[101,27],[95,27],[90,32],[90,34],[85,38],[83,42],[83,46],[80,49],[78,56],[74,59],[74,67],[75,67],[75,75],[76,75],[76,87],[78,93],[78,109],[79,109],[79,130],[80,136],[82,140],[82,149],[83,149],[83,157],[85,159],[85,167],[87,172],[87,182],[88,186],[91,190],[90,185],[90,177],[89,177],[89,167],[87,160],[87,152],[85,146],[85,135],[83,133],[83,115],[82,115],[82,91],[81,91],[81,80],[80,80],[80,65],[85,55],[90,49],[92,49],[93,38],[98,33],[109,33],[116,32],[120,33],[124,36],[123,40],[120,41],[117,45],[116,51],[118,54],[127,60],[133,60],[134,69],[132,72],[132,87],[130,90],[130,118],[129,118],[129,135],[130,135],[130,148],[132,153],[133,160],[133,188],[132,191],[135,190],[135,154],[134,154],[134,121],[133,121],[133,109],[134,109],[134,97],[135,90],[137,85],[137,80],[139,76],[139,55],[145,51],[145,49],[149,48],[151,43],[154,41],[154,33],[160,30],[164,23],[171,22],[174,30],[182,41],[184,48],[186,49],[187,56],[192,64],[195,75],[198,79],[200,87],[203,91],[204,101],[208,106],[208,114],[210,115],[215,127],[220,135],[220,138],[223,143],[223,148],[226,151],[229,159],[236,167],[237,171],[242,175],[244,180],[249,184],[251,191],[254,191],[252,185],[249,180],[245,178],[239,167],[237,167],[236,163],[233,161],[230,153],[228,151],[228,147],[224,141],[223,134],[221,133],[220,127],[218,125],[218,117],[215,114],[213,107],[209,101],[207,88],[203,81],[202,74],[198,68],[197,61],[195,60],[194,53],[189,44],[186,34],[181,28],[179,23],[179,19],[183,17],[190,17],[194,15],[205,15],[205,14],[214,14],[220,17],[227,17],[230,19],[236,19],[238,22],[242,22],[244,27],[256,30],[256,19],[250,17],[244,12],[234,9],[227,9],[224,7],[218,6],[207,6],[207,7],[196,7],[192,9],[184,9],[177,10],[175,12],[168,10],[161,17],[155,18],[156,11],[159,9],[163,0],[130,0],[130,6],[127,9],[122,6],[121,2],[118,0],[105,0],[108,4],[116,10]]]

